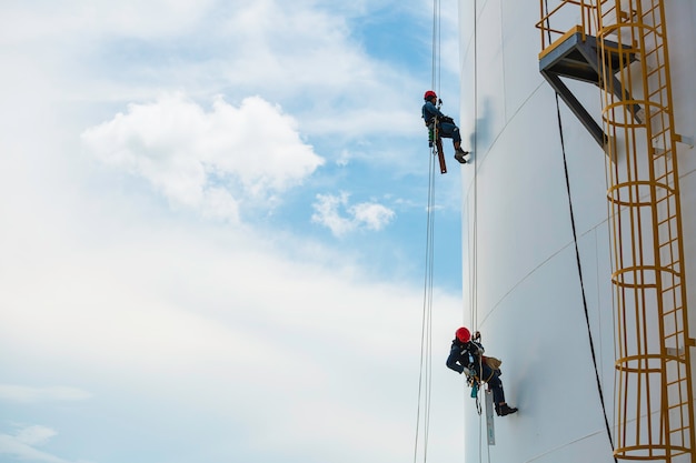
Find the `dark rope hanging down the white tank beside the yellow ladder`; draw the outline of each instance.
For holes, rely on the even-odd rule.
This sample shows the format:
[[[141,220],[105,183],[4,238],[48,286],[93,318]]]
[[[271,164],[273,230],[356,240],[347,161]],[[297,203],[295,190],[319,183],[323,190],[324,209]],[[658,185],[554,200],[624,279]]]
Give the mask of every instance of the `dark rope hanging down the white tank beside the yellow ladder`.
[[[546,14],[547,31],[548,31],[549,43],[550,43],[548,0],[545,0],[545,9],[546,9],[545,14]],[[558,135],[560,138],[560,150],[563,152],[563,167],[564,167],[564,171],[566,175],[566,190],[568,193],[568,210],[570,212],[570,227],[573,229],[573,242],[575,244],[575,259],[577,262],[578,278],[580,281],[580,292],[583,294],[583,306],[585,309],[585,322],[587,324],[587,338],[589,340],[589,350],[590,350],[591,358],[593,358],[593,365],[595,368],[595,380],[597,382],[597,392],[599,394],[599,402],[601,403],[601,412],[604,414],[604,424],[607,431],[607,437],[609,439],[609,444],[612,445],[612,451],[613,451],[612,454],[614,454],[614,440],[612,439],[612,426],[609,425],[609,419],[607,417],[607,407],[604,401],[601,379],[599,378],[599,368],[597,365],[597,354],[595,352],[595,342],[594,342],[593,331],[591,331],[591,326],[589,322],[589,310],[587,309],[587,296],[585,295],[585,282],[583,280],[583,265],[580,263],[580,251],[578,249],[578,243],[577,243],[577,229],[575,227],[575,213],[573,211],[573,198],[570,195],[570,178],[568,175],[568,161],[566,157],[566,143],[565,143],[564,131],[563,131],[563,119],[560,115],[560,101],[558,98],[558,93],[555,93],[555,95],[556,95],[556,114],[557,114],[557,120],[558,120]],[[616,459],[616,456],[614,456],[614,461],[618,463],[618,460]]]

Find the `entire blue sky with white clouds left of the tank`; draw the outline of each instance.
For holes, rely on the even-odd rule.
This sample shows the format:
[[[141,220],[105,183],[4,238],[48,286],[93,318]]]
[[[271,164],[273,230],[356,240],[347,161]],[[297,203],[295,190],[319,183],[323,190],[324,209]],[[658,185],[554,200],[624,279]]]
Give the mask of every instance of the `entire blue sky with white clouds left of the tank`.
[[[412,459],[432,3],[342,3],[0,6],[1,462]],[[446,149],[429,445],[453,457]]]

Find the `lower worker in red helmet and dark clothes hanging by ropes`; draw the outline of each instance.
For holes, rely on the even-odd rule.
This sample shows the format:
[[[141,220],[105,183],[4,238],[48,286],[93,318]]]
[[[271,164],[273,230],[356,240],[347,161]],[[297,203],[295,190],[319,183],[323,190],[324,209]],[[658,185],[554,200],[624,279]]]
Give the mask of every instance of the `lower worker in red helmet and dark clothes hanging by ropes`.
[[[488,383],[493,391],[493,400],[496,404],[498,416],[509,415],[517,412],[517,409],[509,406],[505,402],[503,381],[500,381],[500,361],[496,358],[484,355],[484,346],[480,344],[480,333],[475,333],[471,340],[471,332],[461,326],[455,333],[451,342],[451,350],[447,358],[447,366],[458,373],[465,373],[469,383]]]

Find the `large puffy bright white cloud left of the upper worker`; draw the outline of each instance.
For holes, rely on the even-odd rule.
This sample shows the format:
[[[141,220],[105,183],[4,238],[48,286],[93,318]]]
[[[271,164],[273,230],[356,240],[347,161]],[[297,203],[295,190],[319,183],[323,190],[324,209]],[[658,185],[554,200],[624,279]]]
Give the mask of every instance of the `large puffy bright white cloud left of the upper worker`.
[[[238,222],[245,202],[269,207],[324,159],[296,121],[259,97],[236,108],[221,98],[206,112],[181,93],[130,104],[82,133],[102,162],[139,175],[175,207]]]

